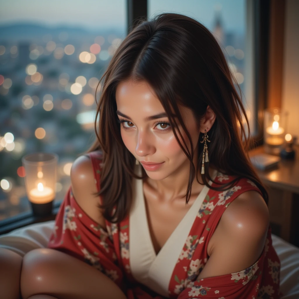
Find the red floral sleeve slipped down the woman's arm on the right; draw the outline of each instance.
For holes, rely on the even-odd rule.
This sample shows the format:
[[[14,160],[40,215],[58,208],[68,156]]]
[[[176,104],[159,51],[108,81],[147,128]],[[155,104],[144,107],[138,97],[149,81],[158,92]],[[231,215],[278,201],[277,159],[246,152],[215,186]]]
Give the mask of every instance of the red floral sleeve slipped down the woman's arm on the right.
[[[177,299],[280,298],[280,263],[272,246],[271,229],[260,258],[243,271],[190,282]]]

